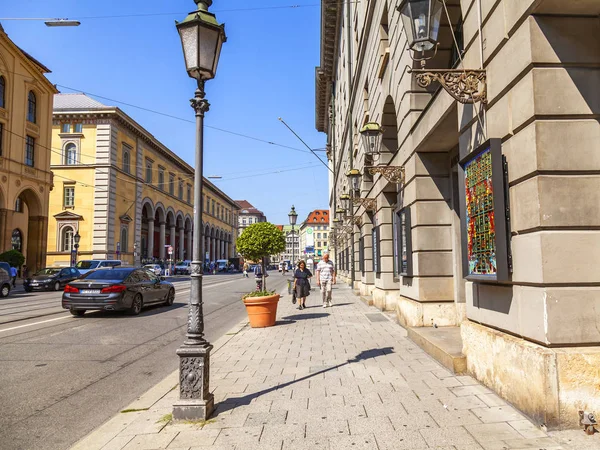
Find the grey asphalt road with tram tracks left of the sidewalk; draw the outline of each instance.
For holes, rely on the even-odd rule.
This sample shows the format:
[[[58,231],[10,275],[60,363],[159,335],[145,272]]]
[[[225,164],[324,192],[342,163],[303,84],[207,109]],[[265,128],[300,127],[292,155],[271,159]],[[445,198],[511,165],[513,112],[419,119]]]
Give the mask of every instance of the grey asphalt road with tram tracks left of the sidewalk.
[[[269,289],[286,279],[271,272]],[[60,292],[0,299],[0,448],[67,449],[177,369],[190,282],[171,307],[133,317],[89,312],[71,317]],[[246,315],[253,277],[204,277],[205,333],[214,341]]]

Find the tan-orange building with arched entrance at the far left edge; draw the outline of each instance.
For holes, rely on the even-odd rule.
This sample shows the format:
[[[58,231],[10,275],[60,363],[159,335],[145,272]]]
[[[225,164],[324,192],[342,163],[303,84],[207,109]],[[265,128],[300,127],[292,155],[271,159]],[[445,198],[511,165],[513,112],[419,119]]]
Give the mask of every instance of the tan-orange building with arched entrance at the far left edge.
[[[50,70],[11,41],[0,25],[0,252],[19,250],[25,264],[45,264],[50,130]]]

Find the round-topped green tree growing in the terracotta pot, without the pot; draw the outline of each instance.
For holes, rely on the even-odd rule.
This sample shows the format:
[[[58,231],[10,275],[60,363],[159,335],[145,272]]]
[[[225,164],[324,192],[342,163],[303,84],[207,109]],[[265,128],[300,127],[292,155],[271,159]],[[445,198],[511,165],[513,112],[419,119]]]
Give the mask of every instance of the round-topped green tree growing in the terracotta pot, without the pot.
[[[247,227],[237,239],[236,248],[244,258],[260,261],[263,269],[263,290],[266,291],[265,258],[285,250],[283,231],[269,222],[254,223]]]

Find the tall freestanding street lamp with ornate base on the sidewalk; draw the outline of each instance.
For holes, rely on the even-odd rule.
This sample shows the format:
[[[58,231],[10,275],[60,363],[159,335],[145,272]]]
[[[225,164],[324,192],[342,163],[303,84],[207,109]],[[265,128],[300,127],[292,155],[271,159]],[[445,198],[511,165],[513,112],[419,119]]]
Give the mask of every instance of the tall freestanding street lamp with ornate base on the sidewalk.
[[[191,290],[186,339],[177,349],[179,356],[179,400],[173,405],[177,420],[206,420],[214,409],[209,389],[210,351],[213,346],[204,337],[202,311],[202,153],[204,114],[209,103],[204,98],[204,83],[214,78],[226,41],[225,26],[208,12],[212,0],[194,0],[197,10],[176,23],[181,38],[188,75],[198,83],[192,108],[196,113],[196,161],[194,174],[194,232],[191,263]]]

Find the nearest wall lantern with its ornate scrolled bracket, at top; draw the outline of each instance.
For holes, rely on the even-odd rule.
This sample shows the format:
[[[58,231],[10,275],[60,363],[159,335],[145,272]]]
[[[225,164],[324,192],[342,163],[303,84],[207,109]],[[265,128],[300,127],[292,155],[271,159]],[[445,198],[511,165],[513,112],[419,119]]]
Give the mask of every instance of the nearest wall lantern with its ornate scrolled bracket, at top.
[[[402,23],[408,40],[409,51],[420,54],[411,57],[421,62],[421,69],[414,69],[417,83],[426,88],[438,81],[442,87],[460,103],[487,103],[487,85],[485,70],[473,69],[435,69],[425,70],[428,59],[437,53],[438,32],[442,9],[440,0],[403,0],[398,6],[402,14]],[[451,26],[452,24],[450,24]],[[426,52],[434,51],[426,57]]]

